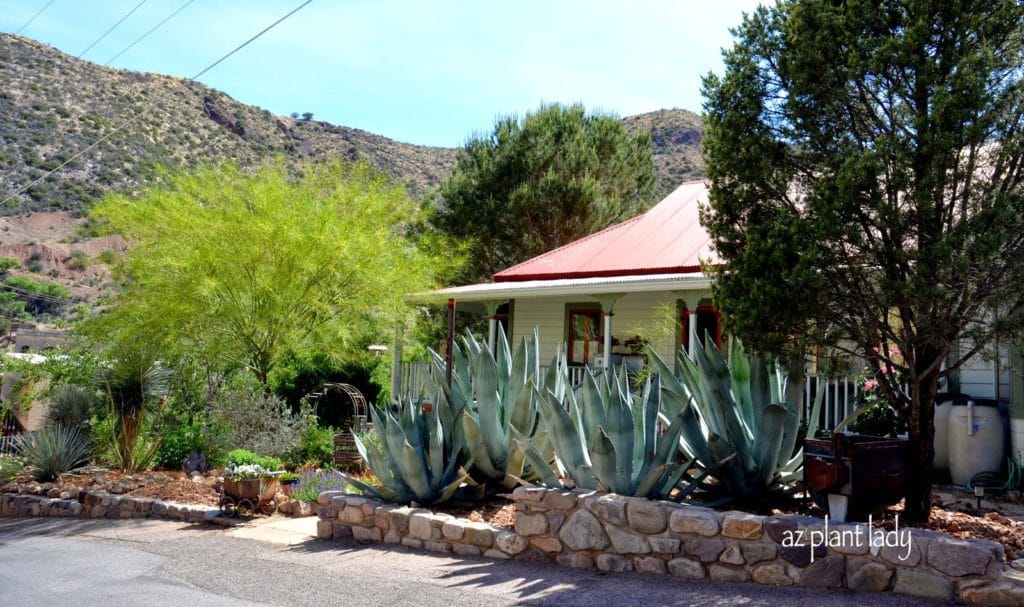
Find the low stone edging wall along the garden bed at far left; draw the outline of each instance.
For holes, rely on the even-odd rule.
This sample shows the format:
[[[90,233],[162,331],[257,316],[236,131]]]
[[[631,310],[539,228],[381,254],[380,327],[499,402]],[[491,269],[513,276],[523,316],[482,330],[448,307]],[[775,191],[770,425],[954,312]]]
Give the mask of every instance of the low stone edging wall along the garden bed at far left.
[[[106,491],[67,491],[50,497],[31,493],[0,493],[0,517],[60,516],[82,518],[165,518],[199,523],[220,514],[210,506],[162,502],[153,497],[118,495]]]

